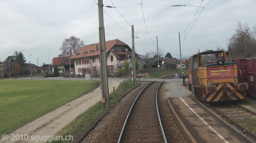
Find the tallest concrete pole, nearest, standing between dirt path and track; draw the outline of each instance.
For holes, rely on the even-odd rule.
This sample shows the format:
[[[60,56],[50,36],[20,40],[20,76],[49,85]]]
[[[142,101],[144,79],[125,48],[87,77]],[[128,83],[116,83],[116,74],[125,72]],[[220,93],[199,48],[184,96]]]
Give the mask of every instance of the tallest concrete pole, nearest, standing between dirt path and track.
[[[106,67],[106,46],[105,46],[105,29],[104,29],[104,16],[103,16],[103,3],[98,0],[98,20],[99,20],[99,34],[100,34],[100,71],[101,71],[101,96],[106,98],[105,107],[110,108],[109,101],[109,84],[108,74]]]

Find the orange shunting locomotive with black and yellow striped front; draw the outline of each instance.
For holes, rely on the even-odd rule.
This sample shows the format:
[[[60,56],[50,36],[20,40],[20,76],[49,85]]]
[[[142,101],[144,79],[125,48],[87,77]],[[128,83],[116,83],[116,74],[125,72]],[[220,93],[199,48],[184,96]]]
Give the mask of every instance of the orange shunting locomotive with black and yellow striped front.
[[[247,83],[238,83],[236,62],[226,51],[208,50],[189,57],[189,90],[202,101],[240,101]]]

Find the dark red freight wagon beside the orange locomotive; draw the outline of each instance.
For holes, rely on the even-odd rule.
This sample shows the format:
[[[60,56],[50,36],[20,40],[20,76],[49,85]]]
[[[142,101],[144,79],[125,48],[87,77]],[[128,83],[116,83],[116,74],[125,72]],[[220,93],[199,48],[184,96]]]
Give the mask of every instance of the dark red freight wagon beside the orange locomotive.
[[[240,78],[239,83],[248,83],[248,93],[250,96],[256,98],[256,58],[241,58],[236,59],[237,66],[240,67],[241,72],[238,72]],[[242,76],[241,76],[242,73]]]

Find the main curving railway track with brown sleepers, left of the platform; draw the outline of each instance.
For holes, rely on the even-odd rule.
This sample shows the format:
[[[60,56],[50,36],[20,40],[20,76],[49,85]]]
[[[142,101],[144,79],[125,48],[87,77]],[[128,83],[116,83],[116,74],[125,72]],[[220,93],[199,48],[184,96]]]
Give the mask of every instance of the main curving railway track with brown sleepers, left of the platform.
[[[153,82],[139,93],[123,124],[118,142],[167,142],[157,102],[160,85],[162,83]]]

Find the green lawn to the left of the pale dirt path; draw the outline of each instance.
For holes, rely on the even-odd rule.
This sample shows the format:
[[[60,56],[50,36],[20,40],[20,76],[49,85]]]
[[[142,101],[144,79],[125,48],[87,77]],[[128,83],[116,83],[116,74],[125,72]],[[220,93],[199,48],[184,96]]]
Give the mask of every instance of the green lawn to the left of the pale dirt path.
[[[100,81],[0,80],[0,135],[15,131],[99,84]]]

